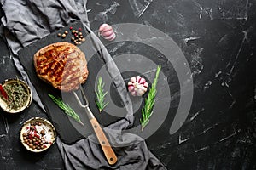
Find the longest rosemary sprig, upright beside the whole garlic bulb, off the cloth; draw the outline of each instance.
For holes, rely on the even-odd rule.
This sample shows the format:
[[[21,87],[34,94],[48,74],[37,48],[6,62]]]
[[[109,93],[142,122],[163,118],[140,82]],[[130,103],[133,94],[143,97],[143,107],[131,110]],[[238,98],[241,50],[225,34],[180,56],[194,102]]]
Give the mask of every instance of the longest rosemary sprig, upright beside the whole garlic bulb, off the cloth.
[[[160,69],[161,69],[161,66],[158,65],[156,73],[155,73],[155,77],[154,77],[154,82],[152,83],[152,87],[150,88],[150,90],[148,92],[148,98],[145,99],[145,105],[143,106],[143,109],[142,109],[143,117],[140,119],[140,122],[142,125],[142,131],[143,131],[144,127],[147,126],[147,124],[149,122],[149,118],[153,114],[153,107],[154,107],[154,102],[155,102],[154,98],[157,93],[156,85],[157,85],[158,77],[160,74]]]

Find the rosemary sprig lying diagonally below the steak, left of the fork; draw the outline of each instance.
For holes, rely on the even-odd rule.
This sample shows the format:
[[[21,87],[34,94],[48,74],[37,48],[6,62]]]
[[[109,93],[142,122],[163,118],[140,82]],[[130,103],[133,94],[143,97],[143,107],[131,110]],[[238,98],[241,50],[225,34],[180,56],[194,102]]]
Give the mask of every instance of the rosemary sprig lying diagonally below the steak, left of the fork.
[[[55,102],[56,105],[58,105],[68,116],[71,116],[75,121],[79,122],[84,126],[84,123],[81,122],[79,115],[73,111],[73,109],[66,105],[61,98],[55,98],[52,94],[48,94],[49,97]]]

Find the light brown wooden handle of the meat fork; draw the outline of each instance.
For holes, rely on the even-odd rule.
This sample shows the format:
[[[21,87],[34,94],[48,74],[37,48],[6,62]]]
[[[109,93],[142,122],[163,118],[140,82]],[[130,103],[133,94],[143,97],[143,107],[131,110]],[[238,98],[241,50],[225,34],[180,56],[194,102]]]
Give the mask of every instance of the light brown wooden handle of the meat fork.
[[[99,143],[102,146],[102,150],[108,160],[109,165],[113,165],[117,162],[117,156],[115,155],[112,147],[108,143],[108,139],[105,135],[105,133],[102,130],[102,127],[100,124],[97,122],[96,118],[90,119],[90,123],[94,129],[94,132],[96,133],[96,137],[99,141]]]

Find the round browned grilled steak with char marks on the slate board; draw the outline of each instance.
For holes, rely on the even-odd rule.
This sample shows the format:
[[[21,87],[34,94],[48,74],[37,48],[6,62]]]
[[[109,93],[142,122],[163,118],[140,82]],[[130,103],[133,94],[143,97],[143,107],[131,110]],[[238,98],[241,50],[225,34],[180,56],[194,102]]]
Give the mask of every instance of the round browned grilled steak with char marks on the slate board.
[[[78,89],[88,77],[84,53],[68,42],[55,42],[34,54],[37,75],[53,87],[68,92]]]

